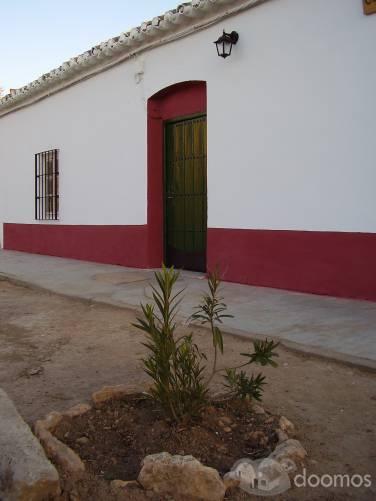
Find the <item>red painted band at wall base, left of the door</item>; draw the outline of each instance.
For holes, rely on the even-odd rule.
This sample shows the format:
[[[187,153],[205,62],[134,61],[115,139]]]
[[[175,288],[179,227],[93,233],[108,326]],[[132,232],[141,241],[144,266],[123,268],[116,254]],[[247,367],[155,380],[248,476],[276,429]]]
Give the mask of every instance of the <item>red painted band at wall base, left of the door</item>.
[[[147,227],[4,224],[4,248],[147,268]]]

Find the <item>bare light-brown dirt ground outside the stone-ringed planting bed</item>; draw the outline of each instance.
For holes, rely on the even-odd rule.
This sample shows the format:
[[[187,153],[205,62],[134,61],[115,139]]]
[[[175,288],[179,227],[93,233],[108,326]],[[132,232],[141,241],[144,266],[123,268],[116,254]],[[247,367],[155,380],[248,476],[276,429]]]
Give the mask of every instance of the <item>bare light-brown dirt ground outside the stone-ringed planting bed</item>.
[[[0,386],[32,423],[87,401],[104,385],[142,385],[145,348],[134,320],[129,310],[0,281]],[[195,329],[195,336],[210,351],[208,332]],[[237,364],[249,345],[225,336],[223,365]],[[264,370],[264,406],[295,423],[309,453],[307,474],[372,475],[368,489],[294,488],[281,499],[376,499],[376,374],[283,348],[279,353],[279,367]]]

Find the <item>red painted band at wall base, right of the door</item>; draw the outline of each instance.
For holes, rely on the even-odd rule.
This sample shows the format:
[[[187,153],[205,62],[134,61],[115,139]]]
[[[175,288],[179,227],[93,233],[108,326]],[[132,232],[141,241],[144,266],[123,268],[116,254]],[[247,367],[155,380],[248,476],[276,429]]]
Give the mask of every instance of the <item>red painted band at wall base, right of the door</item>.
[[[376,301],[376,233],[209,228],[223,279]]]

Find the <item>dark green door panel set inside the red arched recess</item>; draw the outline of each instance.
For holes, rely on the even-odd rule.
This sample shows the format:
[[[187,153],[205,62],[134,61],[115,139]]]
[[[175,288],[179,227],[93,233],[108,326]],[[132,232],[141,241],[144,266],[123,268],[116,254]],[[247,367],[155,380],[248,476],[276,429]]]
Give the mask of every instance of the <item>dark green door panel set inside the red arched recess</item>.
[[[206,117],[165,126],[165,261],[206,271]]]

